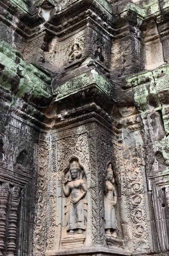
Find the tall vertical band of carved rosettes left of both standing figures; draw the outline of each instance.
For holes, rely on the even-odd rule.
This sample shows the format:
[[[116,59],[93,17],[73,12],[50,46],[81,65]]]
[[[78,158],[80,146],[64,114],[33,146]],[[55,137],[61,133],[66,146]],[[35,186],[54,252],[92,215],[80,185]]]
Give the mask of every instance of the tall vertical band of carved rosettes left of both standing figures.
[[[46,225],[46,198],[48,184],[49,151],[48,145],[41,142],[37,150],[37,183],[36,183],[36,205],[33,233],[33,255],[43,256],[46,250],[45,225]]]

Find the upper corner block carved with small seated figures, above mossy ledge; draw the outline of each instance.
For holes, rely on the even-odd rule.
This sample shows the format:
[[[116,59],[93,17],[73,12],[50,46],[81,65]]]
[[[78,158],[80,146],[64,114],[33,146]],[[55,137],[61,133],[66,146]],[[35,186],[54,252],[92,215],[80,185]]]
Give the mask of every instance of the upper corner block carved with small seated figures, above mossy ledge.
[[[44,52],[45,61],[57,67],[80,65],[87,57],[106,67],[110,65],[111,40],[90,27],[63,38],[54,36],[48,47],[49,51]]]

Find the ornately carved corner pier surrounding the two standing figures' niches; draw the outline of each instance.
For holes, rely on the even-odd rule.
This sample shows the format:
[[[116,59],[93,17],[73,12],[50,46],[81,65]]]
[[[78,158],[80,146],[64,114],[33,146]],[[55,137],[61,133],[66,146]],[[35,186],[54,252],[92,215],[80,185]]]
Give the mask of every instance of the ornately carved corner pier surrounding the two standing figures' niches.
[[[83,166],[88,187],[86,196],[88,202],[87,229],[86,233],[84,233],[87,236],[84,240],[84,246],[106,246],[103,185],[108,163],[112,162],[115,165],[112,137],[115,141],[116,136],[106,127],[104,128],[102,125],[97,124],[97,122],[60,129],[53,134],[53,166],[50,174],[52,175],[50,186],[53,199],[50,200],[52,206],[48,207],[52,217],[48,216],[50,227],[46,252],[64,250],[65,247],[65,245],[61,245],[60,238],[66,225],[64,205],[68,201],[62,198],[61,181],[64,178],[63,171],[67,168],[72,157],[77,158],[80,161],[80,165]],[[119,168],[116,166],[115,169]],[[120,171],[118,170],[116,174],[117,180],[120,180],[119,175]],[[76,248],[76,246],[74,245],[73,247]]]

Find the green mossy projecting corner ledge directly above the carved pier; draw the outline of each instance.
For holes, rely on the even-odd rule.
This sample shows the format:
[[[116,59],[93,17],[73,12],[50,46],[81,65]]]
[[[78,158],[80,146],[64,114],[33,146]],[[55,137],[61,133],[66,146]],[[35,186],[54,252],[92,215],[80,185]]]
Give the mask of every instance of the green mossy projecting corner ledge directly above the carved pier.
[[[77,103],[95,102],[107,111],[106,108],[110,108],[114,101],[113,90],[112,82],[100,70],[89,67],[86,72],[60,84],[54,90],[54,97],[57,105],[71,103],[72,107],[76,107]]]

